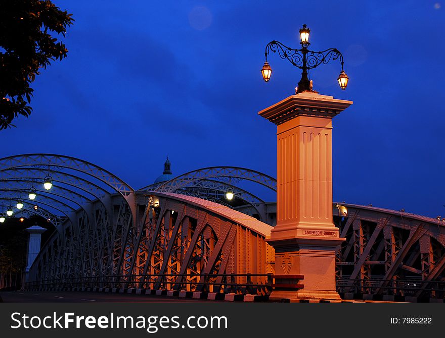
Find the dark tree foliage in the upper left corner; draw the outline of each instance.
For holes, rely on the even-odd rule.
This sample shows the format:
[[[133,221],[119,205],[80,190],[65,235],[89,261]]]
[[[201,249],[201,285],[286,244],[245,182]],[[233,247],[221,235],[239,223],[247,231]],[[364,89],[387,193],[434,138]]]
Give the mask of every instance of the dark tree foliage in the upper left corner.
[[[68,52],[51,34],[65,37],[73,21],[50,0],[0,0],[0,130],[31,114],[30,84]]]

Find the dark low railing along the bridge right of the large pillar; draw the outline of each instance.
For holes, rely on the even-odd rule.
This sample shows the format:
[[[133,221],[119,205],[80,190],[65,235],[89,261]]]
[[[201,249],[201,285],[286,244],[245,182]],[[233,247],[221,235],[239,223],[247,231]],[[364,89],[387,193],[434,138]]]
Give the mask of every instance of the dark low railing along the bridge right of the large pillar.
[[[421,279],[337,279],[338,293],[445,298],[445,281]]]

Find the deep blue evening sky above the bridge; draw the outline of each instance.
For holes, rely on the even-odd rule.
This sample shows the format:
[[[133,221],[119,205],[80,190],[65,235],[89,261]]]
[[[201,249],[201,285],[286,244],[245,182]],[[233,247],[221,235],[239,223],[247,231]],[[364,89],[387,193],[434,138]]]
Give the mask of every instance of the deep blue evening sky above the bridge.
[[[310,74],[354,104],[333,131],[334,200],[445,215],[445,3],[437,1],[57,1],[76,20],[68,58],[36,79],[30,118],[0,132],[0,156],[31,152],[94,162],[135,188],[165,156],[173,174],[236,165],[276,177],[276,126],[257,112],[291,95],[298,69],[269,59],[271,40],[338,48]]]

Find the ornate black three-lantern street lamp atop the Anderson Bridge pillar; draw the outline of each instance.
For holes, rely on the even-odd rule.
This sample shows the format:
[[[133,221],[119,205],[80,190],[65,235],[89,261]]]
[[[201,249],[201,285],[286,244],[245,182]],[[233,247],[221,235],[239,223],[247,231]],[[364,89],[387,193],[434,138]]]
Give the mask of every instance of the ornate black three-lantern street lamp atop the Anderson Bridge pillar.
[[[307,49],[307,47],[310,45],[309,32],[310,29],[307,28],[306,25],[303,25],[303,28],[299,30],[301,49],[290,48],[275,40],[266,45],[264,52],[265,62],[263,68],[261,69],[263,80],[268,82],[271,78],[272,68],[268,63],[268,54],[273,51],[274,53],[278,52],[281,59],[287,59],[293,66],[302,70],[301,80],[298,82],[298,87],[296,90],[297,94],[303,91],[311,91],[309,79],[307,77],[307,71],[309,69],[314,69],[321,64],[327,64],[329,61],[337,59],[341,64],[340,75],[337,78],[338,84],[340,85],[341,89],[345,90],[349,77],[343,70],[343,55],[336,48],[329,48],[322,51],[312,51]]]

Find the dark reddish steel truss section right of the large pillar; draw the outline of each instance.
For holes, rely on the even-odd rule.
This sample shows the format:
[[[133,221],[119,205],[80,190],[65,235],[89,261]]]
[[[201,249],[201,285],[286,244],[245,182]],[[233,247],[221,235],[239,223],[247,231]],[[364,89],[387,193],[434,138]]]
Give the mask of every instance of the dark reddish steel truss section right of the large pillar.
[[[342,204],[348,216],[336,221],[346,238],[337,254],[340,290],[437,297],[428,288],[437,288],[445,271],[445,224],[404,211]],[[334,217],[340,217],[336,209],[334,203]]]

